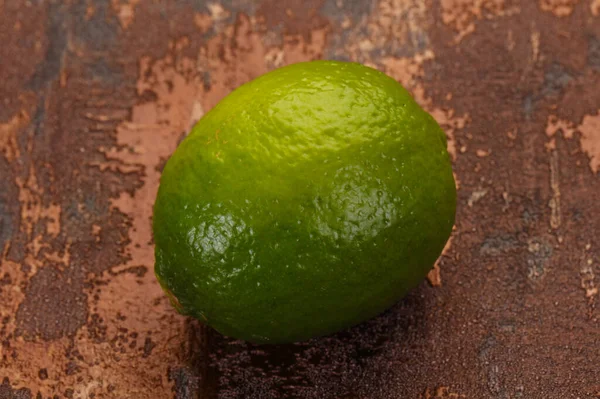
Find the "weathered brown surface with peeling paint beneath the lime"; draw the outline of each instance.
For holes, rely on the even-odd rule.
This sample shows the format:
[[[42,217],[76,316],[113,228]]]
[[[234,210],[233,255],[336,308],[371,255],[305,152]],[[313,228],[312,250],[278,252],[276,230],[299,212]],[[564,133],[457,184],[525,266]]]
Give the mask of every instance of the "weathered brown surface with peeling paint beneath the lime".
[[[0,1],[0,398],[600,397],[600,1]],[[444,126],[431,284],[280,347],[177,315],[160,170],[231,89],[355,60]]]

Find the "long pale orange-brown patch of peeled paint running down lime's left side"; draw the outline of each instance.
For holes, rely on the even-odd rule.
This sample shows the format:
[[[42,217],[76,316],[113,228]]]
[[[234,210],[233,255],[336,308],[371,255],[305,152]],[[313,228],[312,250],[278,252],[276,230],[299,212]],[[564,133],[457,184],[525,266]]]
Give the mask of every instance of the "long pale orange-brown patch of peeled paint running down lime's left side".
[[[142,395],[149,385],[154,387],[153,395],[170,395],[167,366],[177,363],[175,356],[179,343],[173,338],[183,333],[185,319],[170,307],[152,272],[154,251],[150,204],[158,190],[159,166],[173,153],[180,138],[190,128],[190,121],[202,116],[201,108],[197,106],[199,88],[202,87],[200,78],[192,60],[177,56],[186,43],[185,40],[172,42],[171,53],[164,59],[153,61],[145,57],[140,60],[137,93],[141,96],[151,92],[154,100],[133,107],[131,120],[117,127],[116,146],[105,150],[108,164],[104,167],[117,165],[120,171],[142,172],[143,184],[133,195],[122,192],[112,200],[114,209],[127,214],[131,220],[130,243],[125,249],[129,261],[100,276],[107,283],[97,294],[90,296],[88,307],[95,319],[104,321],[99,324],[102,336],[117,337],[113,349],[119,353],[122,347],[125,352],[120,356],[138,359],[139,370],[136,373],[125,372],[123,367],[127,367],[126,364],[115,361],[108,352],[101,359],[102,367],[89,368],[91,376],[94,373],[96,378],[102,376],[92,380],[100,384],[88,389],[89,392],[99,393],[108,384],[118,381],[124,384],[120,389],[127,389],[130,395],[135,392]],[[129,270],[149,272],[137,274]],[[144,291],[143,296],[139,295],[139,290]],[[95,339],[93,337],[97,334],[85,331],[87,329],[82,330],[79,338],[82,351],[93,347],[86,342]],[[144,340],[141,335],[151,333],[160,343],[156,351],[162,355],[140,360]],[[164,364],[165,359],[171,360]]]

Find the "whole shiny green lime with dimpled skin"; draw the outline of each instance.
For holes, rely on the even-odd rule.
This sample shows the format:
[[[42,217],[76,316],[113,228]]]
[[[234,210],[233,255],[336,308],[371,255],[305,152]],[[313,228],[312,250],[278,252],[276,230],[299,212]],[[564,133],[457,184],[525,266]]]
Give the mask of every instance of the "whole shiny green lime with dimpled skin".
[[[416,286],[455,206],[445,135],[401,85],[354,63],[295,64],[232,92],[167,162],[155,272],[182,313],[225,335],[305,340]]]

